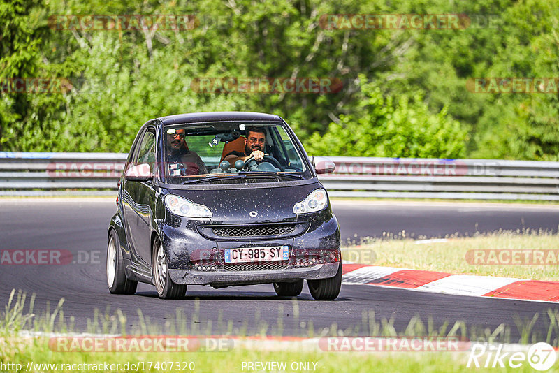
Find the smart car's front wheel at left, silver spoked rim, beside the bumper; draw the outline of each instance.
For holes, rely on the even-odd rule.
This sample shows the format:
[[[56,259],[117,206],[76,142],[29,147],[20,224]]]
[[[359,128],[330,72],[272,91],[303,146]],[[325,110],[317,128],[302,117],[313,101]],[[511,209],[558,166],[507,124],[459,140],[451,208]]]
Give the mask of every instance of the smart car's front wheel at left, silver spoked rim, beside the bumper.
[[[175,284],[169,277],[168,261],[163,245],[154,240],[152,250],[152,277],[161,299],[180,299],[187,292],[186,285]]]

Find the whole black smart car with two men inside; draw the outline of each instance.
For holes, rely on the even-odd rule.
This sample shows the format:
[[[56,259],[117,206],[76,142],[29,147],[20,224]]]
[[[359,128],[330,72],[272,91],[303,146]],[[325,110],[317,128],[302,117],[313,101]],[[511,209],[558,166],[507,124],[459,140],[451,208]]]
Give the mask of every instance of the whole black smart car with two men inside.
[[[340,293],[340,228],[310,159],[281,117],[201,112],[152,119],[133,142],[108,228],[111,293],[138,281],[160,298],[187,285],[273,284],[317,300]]]

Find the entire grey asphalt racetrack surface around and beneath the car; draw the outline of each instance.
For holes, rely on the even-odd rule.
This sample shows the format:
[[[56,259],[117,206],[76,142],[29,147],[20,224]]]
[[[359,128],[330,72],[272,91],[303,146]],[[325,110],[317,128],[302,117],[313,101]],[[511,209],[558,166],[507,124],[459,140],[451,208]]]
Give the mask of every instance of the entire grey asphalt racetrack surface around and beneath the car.
[[[0,309],[8,302],[12,288],[36,293],[34,313],[41,315],[64,298],[64,318],[73,317],[76,330],[87,330],[94,309],[101,313],[122,309],[129,332],[140,330],[138,309],[153,328],[152,332],[225,332],[227,321],[233,331],[249,333],[307,335],[310,323],[316,332],[333,323],[337,328],[359,335],[370,335],[363,315],[374,312],[375,321],[393,318],[402,331],[413,316],[444,321],[465,321],[479,333],[494,330],[501,323],[510,328],[512,339],[520,335],[515,321],[539,313],[532,332],[545,335],[549,323],[544,311],[559,305],[544,302],[498,300],[434,293],[421,293],[373,286],[342,286],[340,297],[332,302],[312,300],[307,291],[293,301],[277,297],[271,284],[215,290],[189,286],[185,300],[159,300],[153,286],[140,284],[136,295],[110,295],[105,279],[106,228],[115,212],[114,200],[45,199],[0,200],[0,249],[64,249],[71,251],[68,265],[0,265]],[[382,232],[405,230],[415,237],[462,235],[499,228],[544,228],[556,231],[559,207],[518,205],[470,205],[451,203],[333,203],[344,239],[379,236]],[[356,236],[355,236],[356,235]],[[27,307],[25,308],[27,311]],[[177,311],[178,310],[178,311]],[[187,322],[177,321],[177,312]],[[174,325],[187,330],[173,329]],[[102,330],[99,330],[102,331]],[[116,330],[119,332],[119,330]],[[541,340],[542,338],[539,338]]]

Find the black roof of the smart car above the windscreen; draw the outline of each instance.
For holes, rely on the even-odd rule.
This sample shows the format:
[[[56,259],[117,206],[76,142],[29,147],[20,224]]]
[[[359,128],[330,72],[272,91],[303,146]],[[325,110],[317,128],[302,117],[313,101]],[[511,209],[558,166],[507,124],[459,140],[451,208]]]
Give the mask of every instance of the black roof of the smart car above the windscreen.
[[[219,122],[219,121],[281,121],[279,115],[264,114],[262,112],[222,111],[222,112],[189,112],[187,114],[168,115],[157,118],[162,124]]]

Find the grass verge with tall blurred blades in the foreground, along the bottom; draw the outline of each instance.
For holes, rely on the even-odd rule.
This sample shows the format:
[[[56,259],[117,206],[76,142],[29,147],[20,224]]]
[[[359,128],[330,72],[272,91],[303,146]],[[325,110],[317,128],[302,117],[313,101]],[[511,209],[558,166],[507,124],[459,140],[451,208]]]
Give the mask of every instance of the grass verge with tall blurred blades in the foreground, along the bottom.
[[[73,328],[66,323],[61,300],[57,307],[47,309],[41,315],[34,313],[34,296],[27,303],[27,296],[15,290],[5,311],[0,314],[0,371],[26,372],[476,372],[494,371],[494,368],[467,367],[470,353],[468,351],[398,351],[398,352],[337,352],[324,351],[317,348],[316,342],[312,349],[285,348],[268,351],[264,344],[256,342],[256,349],[237,344],[238,339],[227,351],[191,351],[191,352],[152,352],[152,351],[61,351],[53,348],[50,333],[72,335]],[[149,335],[222,335],[238,336],[251,334],[247,330],[233,328],[232,323],[223,321],[212,326],[210,321],[200,318],[199,307],[193,314],[186,315],[177,309],[174,319],[168,318],[164,328],[157,329],[148,319],[140,317],[136,328],[127,330],[130,321],[120,312],[105,314],[96,311],[94,318],[88,320],[87,332],[102,335],[133,335],[145,337]],[[27,311],[26,311],[27,310]],[[268,326],[257,333],[266,337],[271,333],[282,335],[284,310],[279,310],[276,326]],[[288,310],[285,310],[286,312]],[[298,314],[297,302],[293,301],[293,316]],[[140,312],[141,315],[141,312]],[[189,317],[190,316],[190,317]],[[532,331],[535,322],[546,322],[544,335],[536,335]],[[208,325],[209,324],[209,325]],[[520,342],[530,344],[547,342],[557,347],[559,344],[559,311],[552,309],[535,314],[531,320],[518,320],[517,328],[521,339],[510,340],[510,330],[504,324],[494,330],[489,328],[468,328],[463,321],[444,323],[434,326],[432,320],[423,323],[419,317],[413,317],[405,330],[397,332],[393,319],[378,319],[374,310],[363,312],[361,325],[341,330],[333,324],[329,328],[305,328],[301,337],[347,337],[351,335],[370,335],[376,337],[444,337],[458,338],[466,341],[509,343]],[[30,331],[33,331],[30,333]],[[271,332],[271,333],[270,333]],[[78,336],[79,337],[79,336]],[[50,343],[51,342],[51,343]],[[253,344],[254,345],[254,344]],[[510,355],[510,354],[509,354]],[[479,360],[483,366],[486,354]],[[284,363],[284,369],[273,370],[264,368],[266,363]],[[259,369],[248,363],[261,363]],[[492,362],[490,361],[490,364]],[[532,372],[532,368],[524,363],[521,368],[506,365],[499,368],[506,372]],[[3,365],[2,365],[3,364]],[[89,364],[89,365],[86,365]],[[112,366],[111,366],[112,365]],[[132,365],[134,365],[132,367]],[[558,372],[556,363],[548,372]]]

